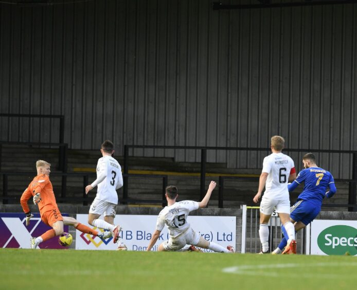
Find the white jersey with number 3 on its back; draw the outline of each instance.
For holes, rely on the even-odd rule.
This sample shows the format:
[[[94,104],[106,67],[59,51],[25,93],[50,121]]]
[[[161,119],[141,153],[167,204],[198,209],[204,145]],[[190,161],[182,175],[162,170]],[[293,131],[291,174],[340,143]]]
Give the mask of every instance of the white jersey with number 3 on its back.
[[[96,198],[101,201],[118,204],[116,190],[123,186],[123,177],[119,162],[111,156],[98,159],[97,179],[92,187],[98,185]]]

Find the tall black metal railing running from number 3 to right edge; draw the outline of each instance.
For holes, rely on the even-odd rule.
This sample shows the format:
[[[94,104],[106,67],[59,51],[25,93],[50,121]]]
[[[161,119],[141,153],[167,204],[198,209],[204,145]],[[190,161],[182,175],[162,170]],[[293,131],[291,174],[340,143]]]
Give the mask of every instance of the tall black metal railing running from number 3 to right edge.
[[[124,165],[123,172],[129,172],[129,149],[184,149],[184,150],[201,150],[201,172],[200,172],[200,198],[204,197],[206,193],[206,162],[207,150],[225,150],[225,151],[264,151],[270,152],[270,148],[246,148],[246,147],[200,147],[200,146],[148,146],[148,145],[124,145]],[[341,179],[349,182],[348,194],[348,209],[353,211],[357,209],[356,205],[356,191],[357,191],[357,151],[349,150],[315,150],[315,149],[284,149],[284,152],[317,152],[317,153],[339,153],[352,154],[352,179]],[[225,177],[227,178],[227,177]],[[223,192],[222,192],[223,194]],[[123,196],[128,195],[128,179],[124,177]]]

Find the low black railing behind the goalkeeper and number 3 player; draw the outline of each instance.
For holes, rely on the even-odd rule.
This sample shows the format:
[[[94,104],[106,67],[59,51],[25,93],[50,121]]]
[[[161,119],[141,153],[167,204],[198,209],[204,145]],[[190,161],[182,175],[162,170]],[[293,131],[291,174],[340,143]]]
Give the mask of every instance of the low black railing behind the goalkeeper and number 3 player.
[[[20,203],[21,194],[18,195],[9,195],[9,176],[34,176],[33,172],[0,172],[0,175],[3,177],[3,195],[0,196],[0,200],[3,200],[3,204],[8,204],[10,200],[16,200]],[[51,176],[61,176],[61,194],[60,196],[56,196],[56,201],[58,202],[82,202],[84,206],[88,205],[89,202],[94,200],[93,197],[88,197],[85,194],[85,187],[89,184],[89,177],[92,176],[95,179],[96,173],[77,173],[77,172],[55,172],[51,173]],[[67,187],[67,177],[81,177],[83,180],[83,187],[82,187],[82,197],[73,197],[73,196],[66,196],[66,187]],[[130,204],[130,203],[138,203],[138,204],[162,204],[164,207],[167,203],[165,198],[165,189],[167,187],[167,175],[152,175],[152,174],[123,174],[123,177],[130,178],[130,177],[148,177],[148,178],[162,178],[162,199],[161,200],[138,200],[134,198],[119,198],[119,202],[121,204]],[[56,195],[56,192],[55,192]]]

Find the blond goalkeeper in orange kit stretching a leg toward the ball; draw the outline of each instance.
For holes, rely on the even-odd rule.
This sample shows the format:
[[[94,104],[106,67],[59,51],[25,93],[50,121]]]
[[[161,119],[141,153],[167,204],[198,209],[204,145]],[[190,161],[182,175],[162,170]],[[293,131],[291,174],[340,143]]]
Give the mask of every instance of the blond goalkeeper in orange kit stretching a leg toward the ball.
[[[74,226],[81,232],[89,233],[98,236],[101,239],[106,239],[111,236],[110,232],[98,232],[85,225],[79,223],[76,219],[69,216],[62,216],[58,209],[53,187],[49,180],[51,165],[44,160],[37,160],[36,169],[37,176],[35,176],[29,186],[26,188],[21,196],[21,206],[26,214],[26,226],[29,225],[31,214],[27,205],[28,200],[32,197],[33,203],[39,206],[41,220],[52,229],[43,233],[40,237],[31,238],[31,248],[35,249],[37,246],[57,235],[63,233],[63,226]],[[106,237],[109,235],[109,237]]]

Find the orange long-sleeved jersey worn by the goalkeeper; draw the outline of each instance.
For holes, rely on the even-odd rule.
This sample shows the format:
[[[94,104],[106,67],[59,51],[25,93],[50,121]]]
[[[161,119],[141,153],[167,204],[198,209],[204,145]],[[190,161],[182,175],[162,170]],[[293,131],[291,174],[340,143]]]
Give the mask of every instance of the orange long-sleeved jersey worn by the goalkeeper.
[[[40,174],[33,178],[21,196],[21,206],[25,213],[30,211],[27,205],[28,200],[38,192],[41,194],[41,198],[37,201],[41,216],[43,212],[58,208],[49,177],[45,174]]]

